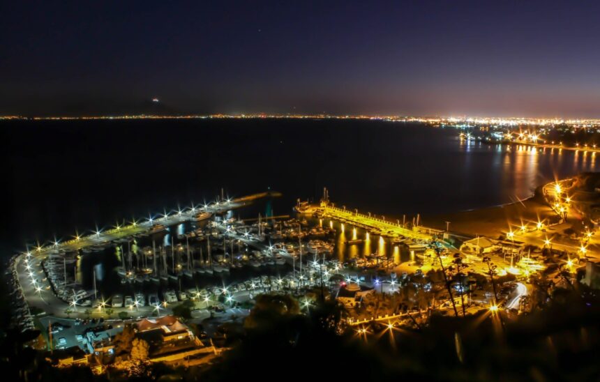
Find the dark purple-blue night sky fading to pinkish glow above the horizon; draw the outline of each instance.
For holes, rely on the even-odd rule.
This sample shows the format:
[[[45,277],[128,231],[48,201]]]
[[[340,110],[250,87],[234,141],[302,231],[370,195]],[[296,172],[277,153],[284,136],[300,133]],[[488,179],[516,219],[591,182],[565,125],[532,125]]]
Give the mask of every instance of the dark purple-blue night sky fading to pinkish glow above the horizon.
[[[0,115],[600,117],[600,3],[574,4],[3,1]]]

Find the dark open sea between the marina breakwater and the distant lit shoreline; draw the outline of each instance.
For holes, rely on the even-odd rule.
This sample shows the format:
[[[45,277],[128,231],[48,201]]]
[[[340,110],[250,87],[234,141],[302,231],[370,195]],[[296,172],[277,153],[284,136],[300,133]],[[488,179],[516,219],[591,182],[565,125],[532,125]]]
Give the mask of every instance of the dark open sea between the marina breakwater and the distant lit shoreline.
[[[242,216],[292,213],[326,186],[339,206],[401,217],[510,203],[598,165],[590,153],[467,144],[453,128],[384,121],[17,121],[0,131],[4,255],[210,201],[221,187],[283,193]]]

